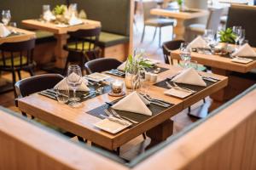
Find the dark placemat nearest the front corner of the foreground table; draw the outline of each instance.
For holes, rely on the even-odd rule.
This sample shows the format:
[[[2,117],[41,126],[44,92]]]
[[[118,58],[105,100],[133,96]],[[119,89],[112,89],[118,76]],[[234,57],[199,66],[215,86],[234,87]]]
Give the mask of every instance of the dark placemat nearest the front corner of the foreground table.
[[[114,100],[111,103],[115,104],[119,100],[120,99]],[[172,106],[173,105],[171,104],[170,107],[172,107]],[[104,112],[104,110],[107,109],[108,107],[109,107],[109,105],[107,105],[107,104],[101,105],[101,106],[97,107],[96,109],[88,111],[87,113],[90,114],[91,116],[96,116],[96,117],[99,117],[99,118],[103,119],[102,116],[100,116],[100,115],[108,116]],[[148,105],[148,109],[150,111],[152,111],[152,116],[158,115],[158,114],[160,114],[160,112],[165,111],[166,109],[169,109],[169,108],[161,107],[160,105],[154,105],[154,104]],[[146,116],[146,115],[142,115],[142,114],[132,113],[132,112],[129,112],[129,111],[117,111],[117,110],[115,110],[115,111],[120,116],[125,116],[125,117],[128,117],[128,118],[131,118],[132,120],[137,121],[137,122],[144,122],[144,121],[146,121],[147,119],[149,119],[151,117],[151,116]]]

